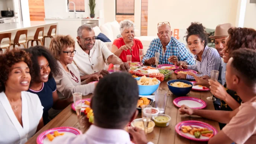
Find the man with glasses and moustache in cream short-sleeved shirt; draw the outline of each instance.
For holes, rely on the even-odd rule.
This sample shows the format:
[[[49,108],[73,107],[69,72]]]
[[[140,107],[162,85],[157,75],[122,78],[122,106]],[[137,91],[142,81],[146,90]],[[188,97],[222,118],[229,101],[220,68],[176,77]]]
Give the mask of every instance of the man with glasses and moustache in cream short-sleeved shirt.
[[[81,80],[94,74],[109,74],[106,64],[120,65],[121,71],[129,71],[129,65],[109,51],[104,42],[97,40],[93,28],[82,25],[77,29],[76,55],[73,67],[80,72]]]

